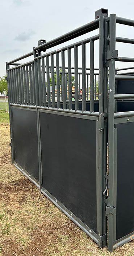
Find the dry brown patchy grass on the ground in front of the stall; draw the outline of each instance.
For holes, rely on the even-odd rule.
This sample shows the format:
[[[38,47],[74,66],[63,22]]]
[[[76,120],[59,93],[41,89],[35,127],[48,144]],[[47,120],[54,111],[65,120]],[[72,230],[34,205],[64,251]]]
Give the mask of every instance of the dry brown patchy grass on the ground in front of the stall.
[[[9,124],[0,125],[0,255],[132,256],[134,241],[99,249],[11,164]]]

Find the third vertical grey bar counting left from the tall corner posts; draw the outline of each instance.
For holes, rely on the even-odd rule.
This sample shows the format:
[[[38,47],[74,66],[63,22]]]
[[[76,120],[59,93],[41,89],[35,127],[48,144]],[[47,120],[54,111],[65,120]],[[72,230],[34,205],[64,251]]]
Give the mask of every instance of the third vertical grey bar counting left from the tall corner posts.
[[[78,103],[78,47],[74,46],[74,61],[75,61],[75,111],[79,110]]]

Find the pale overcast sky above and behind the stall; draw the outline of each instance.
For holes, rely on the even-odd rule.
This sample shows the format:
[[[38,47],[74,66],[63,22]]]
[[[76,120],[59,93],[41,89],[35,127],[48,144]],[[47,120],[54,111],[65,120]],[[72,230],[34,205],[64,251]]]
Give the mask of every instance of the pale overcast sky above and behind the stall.
[[[108,9],[109,14],[116,13],[117,16],[134,19],[133,0],[127,0],[126,3],[122,0],[0,0],[0,76],[6,73],[6,61],[32,51],[39,39],[49,41],[95,20],[95,11],[100,8]],[[71,42],[98,32],[91,32]],[[117,24],[116,35],[134,38],[134,28]],[[116,49],[119,56],[134,57],[133,44],[117,43]],[[96,49],[96,67],[99,67],[98,53]],[[133,66],[133,63],[117,62],[116,66]]]

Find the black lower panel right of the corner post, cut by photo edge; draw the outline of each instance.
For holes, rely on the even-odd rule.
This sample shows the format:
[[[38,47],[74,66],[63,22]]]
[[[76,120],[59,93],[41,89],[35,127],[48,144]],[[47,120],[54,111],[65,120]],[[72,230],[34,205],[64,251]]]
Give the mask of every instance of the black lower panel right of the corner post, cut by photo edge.
[[[117,128],[116,240],[134,231],[134,123]]]

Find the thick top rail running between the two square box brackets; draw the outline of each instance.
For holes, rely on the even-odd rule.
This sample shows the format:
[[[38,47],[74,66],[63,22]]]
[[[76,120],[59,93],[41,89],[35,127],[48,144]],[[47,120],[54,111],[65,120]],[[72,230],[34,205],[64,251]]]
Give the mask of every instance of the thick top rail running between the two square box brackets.
[[[49,49],[51,47],[54,47],[58,44],[61,44],[61,43],[67,42],[71,39],[74,39],[78,36],[84,35],[90,31],[96,30],[97,28],[99,28],[99,20],[100,19],[93,20],[92,22],[89,22],[89,23],[85,24],[84,26],[76,28],[75,30],[72,30],[62,36],[59,36],[59,37],[53,39],[53,40],[50,40],[47,43],[43,43],[43,44],[35,47],[34,50],[43,51],[43,50]]]

